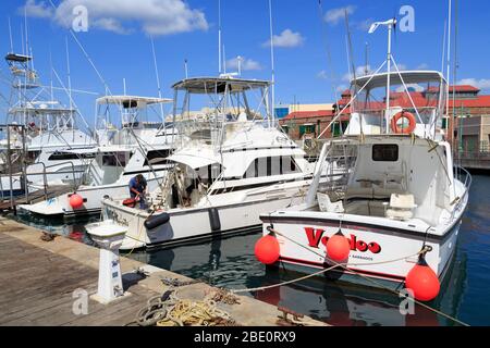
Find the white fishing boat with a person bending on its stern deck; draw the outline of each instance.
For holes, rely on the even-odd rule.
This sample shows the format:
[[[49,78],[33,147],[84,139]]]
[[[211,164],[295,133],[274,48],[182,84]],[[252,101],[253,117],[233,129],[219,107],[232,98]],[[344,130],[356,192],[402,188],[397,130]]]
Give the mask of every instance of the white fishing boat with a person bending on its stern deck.
[[[102,201],[101,224],[127,228],[121,249],[249,231],[260,226],[259,213],[304,199],[313,164],[277,127],[270,87],[266,80],[230,76],[173,85],[179,138],[169,160],[175,166],[151,192],[151,208],[125,207],[122,198]],[[205,107],[192,111],[199,110],[197,103]]]

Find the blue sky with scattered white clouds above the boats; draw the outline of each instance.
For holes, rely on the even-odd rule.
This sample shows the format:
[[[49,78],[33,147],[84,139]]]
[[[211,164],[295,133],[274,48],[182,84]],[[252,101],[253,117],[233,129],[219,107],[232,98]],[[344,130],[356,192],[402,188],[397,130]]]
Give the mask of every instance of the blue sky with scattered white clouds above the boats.
[[[50,82],[52,64],[66,84],[65,38],[68,37],[72,86],[76,89],[103,94],[97,74],[71,37],[71,11],[76,4],[88,10],[88,32],[76,33],[112,94],[122,94],[123,78],[127,94],[157,96],[157,82],[151,55],[150,35],[155,39],[160,80],[164,97],[171,97],[170,86],[184,77],[184,60],[188,60],[191,76],[218,73],[218,0],[49,0],[3,1],[0,14],[0,49],[10,51],[8,20],[13,30],[14,49],[21,50],[23,10],[27,5],[29,46],[35,67],[42,83]],[[490,90],[490,66],[487,63],[490,45],[488,33],[490,2],[458,1],[457,80],[476,84]],[[369,64],[376,69],[384,59],[384,29],[368,35],[368,24],[397,14],[402,5],[415,10],[415,32],[399,32],[393,53],[406,69],[441,70],[445,0],[272,0],[275,48],[277,102],[333,102],[334,89],[347,86],[345,23],[342,11],[350,12],[352,46],[356,66],[365,65],[365,44],[369,44]],[[478,9],[478,10],[476,10]],[[222,38],[226,60],[244,58],[243,76],[270,78],[268,0],[221,0]],[[400,14],[399,14],[400,17]],[[331,61],[327,59],[330,51]],[[233,69],[229,62],[229,71]],[[8,74],[1,65],[2,76]],[[59,85],[54,77],[54,85]],[[7,84],[0,92],[8,95]],[[60,96],[60,99],[63,99]],[[82,114],[94,122],[91,95],[75,95]],[[4,102],[0,100],[2,110]]]

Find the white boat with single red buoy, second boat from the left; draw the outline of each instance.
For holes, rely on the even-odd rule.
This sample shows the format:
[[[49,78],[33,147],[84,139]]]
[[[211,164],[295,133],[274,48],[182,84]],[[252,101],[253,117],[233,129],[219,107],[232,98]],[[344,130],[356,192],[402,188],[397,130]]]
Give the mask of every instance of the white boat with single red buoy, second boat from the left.
[[[78,217],[100,213],[103,197],[124,197],[128,194],[132,177],[143,174],[148,188],[156,189],[173,165],[167,158],[172,152],[173,127],[164,123],[148,122],[150,112],[159,113],[156,107],[171,99],[140,96],[105,96],[97,99],[98,140],[96,151],[88,153],[94,160],[84,173],[76,191],[63,194],[21,209],[42,216]],[[121,127],[112,124],[111,114],[120,115]],[[161,109],[160,109],[161,111]],[[66,150],[73,157],[84,156],[84,149]],[[82,204],[72,204],[77,195]]]

